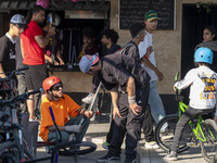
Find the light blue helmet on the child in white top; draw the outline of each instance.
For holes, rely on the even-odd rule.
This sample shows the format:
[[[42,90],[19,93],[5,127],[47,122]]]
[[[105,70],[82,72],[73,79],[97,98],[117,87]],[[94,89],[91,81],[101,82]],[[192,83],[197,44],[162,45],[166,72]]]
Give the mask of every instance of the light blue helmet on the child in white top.
[[[208,48],[201,47],[194,53],[194,62],[213,63],[213,51]]]

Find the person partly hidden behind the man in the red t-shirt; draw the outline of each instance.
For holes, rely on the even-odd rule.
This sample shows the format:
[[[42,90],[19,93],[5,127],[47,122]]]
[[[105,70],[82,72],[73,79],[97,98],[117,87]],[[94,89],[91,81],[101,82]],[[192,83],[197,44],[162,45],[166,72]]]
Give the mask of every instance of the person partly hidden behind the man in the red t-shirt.
[[[46,26],[43,27],[43,36],[48,35],[49,26],[50,26],[50,18],[46,18]],[[44,58],[49,63],[52,63],[52,58],[51,58],[51,52],[52,52],[52,37],[49,40],[49,45],[44,48]],[[55,65],[64,65],[64,61],[61,57],[61,40],[60,40],[60,34],[55,33],[55,57],[58,58],[58,61],[54,61]]]

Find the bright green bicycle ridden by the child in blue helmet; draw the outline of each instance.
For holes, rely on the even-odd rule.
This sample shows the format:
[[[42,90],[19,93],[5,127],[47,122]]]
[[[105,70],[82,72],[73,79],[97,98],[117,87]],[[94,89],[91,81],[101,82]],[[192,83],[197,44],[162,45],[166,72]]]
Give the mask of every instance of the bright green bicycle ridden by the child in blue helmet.
[[[178,80],[179,73],[175,76]],[[165,151],[169,151],[174,141],[176,124],[181,114],[187,110],[188,105],[183,102],[180,91],[176,91],[176,100],[178,101],[178,114],[170,114],[162,118],[155,128],[156,143]],[[165,126],[168,126],[165,130]],[[166,138],[163,135],[166,135]],[[207,162],[215,162],[217,153],[217,126],[213,120],[203,120],[201,115],[191,120],[184,127],[177,152],[183,152],[191,146],[200,143],[203,158]]]

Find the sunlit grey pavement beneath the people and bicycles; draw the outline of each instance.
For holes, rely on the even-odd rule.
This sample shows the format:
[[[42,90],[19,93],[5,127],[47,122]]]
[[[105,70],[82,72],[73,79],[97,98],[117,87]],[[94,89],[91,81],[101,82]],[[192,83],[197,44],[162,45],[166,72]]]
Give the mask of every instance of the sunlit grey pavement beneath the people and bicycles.
[[[106,154],[106,150],[102,148],[102,143],[105,140],[105,136],[110,128],[110,121],[107,118],[101,118],[101,121],[91,122],[90,126],[85,136],[85,141],[92,141],[97,143],[98,148],[94,152],[78,156],[78,162],[80,163],[95,163],[97,158],[104,156]],[[142,135],[143,137],[143,135]],[[166,152],[162,149],[145,149],[144,148],[144,139],[142,139],[138,146],[138,159],[137,163],[206,163],[201,154],[200,147],[190,148],[188,151],[180,153],[178,155],[178,161],[166,161],[164,156]],[[122,147],[123,152],[120,156],[120,163],[125,161],[125,143]],[[44,148],[37,149],[37,158],[46,156]],[[47,163],[49,161],[44,161],[42,163]],[[60,156],[59,163],[73,163],[75,162],[74,156]]]

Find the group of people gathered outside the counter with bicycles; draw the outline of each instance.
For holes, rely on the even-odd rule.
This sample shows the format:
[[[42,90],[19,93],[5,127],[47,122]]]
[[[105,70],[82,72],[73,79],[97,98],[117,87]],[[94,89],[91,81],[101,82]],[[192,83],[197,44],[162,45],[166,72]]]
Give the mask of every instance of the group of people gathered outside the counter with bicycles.
[[[113,121],[106,141],[103,143],[105,148],[108,148],[108,152],[99,158],[98,162],[120,160],[125,136],[125,163],[136,162],[141,129],[144,133],[145,147],[157,147],[154,141],[153,123],[158,123],[165,116],[164,105],[156,88],[156,80],[163,80],[164,75],[156,67],[152,41],[157,21],[157,13],[148,11],[144,23],[135,23],[130,26],[131,40],[123,48],[116,43],[118,34],[114,29],[104,29],[101,39],[105,47],[103,54],[94,45],[94,33],[91,28],[82,30],[84,46],[78,57],[79,67],[82,73],[93,76],[92,89],[82,102],[91,102],[101,82],[103,88],[111,92],[113,105]],[[73,140],[81,141],[93,113],[63,93],[63,83],[58,76],[49,77],[48,75],[46,59],[55,63],[51,58],[50,42],[56,30],[50,24],[50,20],[46,20],[46,11],[40,5],[30,9],[27,18],[20,14],[12,16],[9,32],[0,38],[2,42],[0,43],[0,77],[5,78],[5,72],[15,70],[15,66],[28,66],[25,75],[17,76],[17,86],[20,93],[25,89],[27,91],[41,87],[44,89],[41,95],[36,97],[31,95],[26,102],[29,121],[41,118],[39,136],[44,141],[56,139],[55,126],[49,110],[51,108],[63,141],[72,140],[72,136],[74,136]],[[216,97],[205,98],[208,93],[216,95],[217,74],[215,73],[216,65],[213,64],[213,60],[216,60],[213,55],[213,51],[216,51],[216,46],[213,43],[215,35],[212,28],[204,29],[204,41],[196,47],[194,53],[194,62],[199,67],[191,70],[183,80],[174,86],[174,89],[191,86],[190,103],[177,124],[171,151],[165,156],[167,160],[177,160],[179,138],[188,121],[197,114],[216,110]],[[60,42],[56,41],[55,47],[56,58],[60,64],[64,64],[60,54]],[[207,83],[208,78],[212,78],[213,83]],[[205,89],[206,87],[214,89]],[[40,116],[35,114],[36,108],[39,109]],[[25,112],[25,105],[21,110]],[[79,125],[84,116],[87,118]],[[166,125],[162,131],[167,128]],[[48,149],[48,152],[51,150],[52,147]]]

